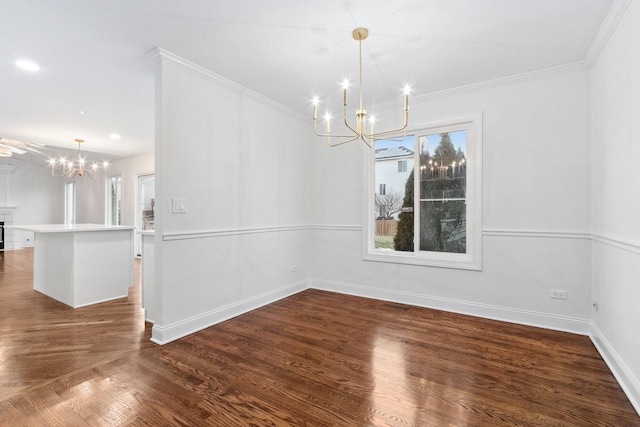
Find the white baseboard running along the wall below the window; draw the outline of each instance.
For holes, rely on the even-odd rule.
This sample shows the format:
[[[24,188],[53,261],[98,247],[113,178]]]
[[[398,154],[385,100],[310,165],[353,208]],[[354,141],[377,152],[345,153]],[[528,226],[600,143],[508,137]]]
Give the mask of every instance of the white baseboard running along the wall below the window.
[[[580,335],[589,335],[589,332],[591,331],[590,323],[587,319],[517,310],[508,307],[479,304],[450,298],[433,297],[429,295],[327,280],[311,279],[310,287],[313,289],[415,305],[418,307],[433,308],[452,313],[466,314],[556,331],[571,332]]]

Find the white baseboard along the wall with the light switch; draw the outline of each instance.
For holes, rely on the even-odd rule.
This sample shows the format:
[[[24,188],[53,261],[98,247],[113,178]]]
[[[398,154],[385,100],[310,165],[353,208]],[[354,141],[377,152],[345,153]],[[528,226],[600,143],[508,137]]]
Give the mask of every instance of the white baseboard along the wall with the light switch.
[[[154,324],[151,329],[151,341],[164,345],[179,338],[201,331],[225,320],[247,313],[256,308],[271,304],[288,296],[297,294],[309,287],[306,280],[282,286],[261,295],[256,295],[227,306],[211,310],[198,316],[170,325]]]

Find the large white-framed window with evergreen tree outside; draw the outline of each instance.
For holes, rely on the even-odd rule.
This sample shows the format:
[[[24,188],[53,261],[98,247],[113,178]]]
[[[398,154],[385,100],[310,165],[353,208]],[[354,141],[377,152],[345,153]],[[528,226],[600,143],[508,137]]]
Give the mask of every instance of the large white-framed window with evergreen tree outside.
[[[382,217],[380,197],[366,198],[363,259],[481,268],[481,135],[478,115],[376,141],[376,153],[410,152],[411,159],[397,161],[398,172],[406,173],[386,187],[399,195],[395,206],[385,206],[396,214]],[[365,168],[369,195],[371,183],[389,174],[384,160],[372,155]]]

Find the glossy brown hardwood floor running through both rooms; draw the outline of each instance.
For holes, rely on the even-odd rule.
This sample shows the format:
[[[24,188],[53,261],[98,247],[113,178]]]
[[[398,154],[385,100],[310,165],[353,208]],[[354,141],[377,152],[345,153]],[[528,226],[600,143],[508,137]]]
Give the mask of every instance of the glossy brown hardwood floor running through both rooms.
[[[0,425],[640,426],[588,337],[308,290],[157,346],[0,253]]]

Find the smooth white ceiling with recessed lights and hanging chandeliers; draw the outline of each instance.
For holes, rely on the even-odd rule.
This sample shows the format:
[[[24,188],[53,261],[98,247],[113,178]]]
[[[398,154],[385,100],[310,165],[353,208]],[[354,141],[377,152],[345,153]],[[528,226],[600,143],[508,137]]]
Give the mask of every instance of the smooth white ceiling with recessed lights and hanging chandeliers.
[[[619,1],[0,0],[0,138],[153,151],[155,47],[306,115],[357,79],[356,27],[365,101],[384,103],[405,83],[420,96],[584,64]]]

